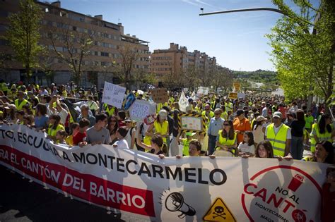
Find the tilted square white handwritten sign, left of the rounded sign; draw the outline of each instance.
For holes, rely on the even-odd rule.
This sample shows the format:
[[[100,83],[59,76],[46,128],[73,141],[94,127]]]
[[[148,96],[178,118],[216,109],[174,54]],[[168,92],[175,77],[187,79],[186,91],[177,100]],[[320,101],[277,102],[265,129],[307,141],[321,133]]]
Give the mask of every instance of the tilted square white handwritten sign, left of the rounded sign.
[[[117,108],[121,108],[125,92],[125,87],[120,87],[119,85],[105,82],[102,94],[102,102]]]

